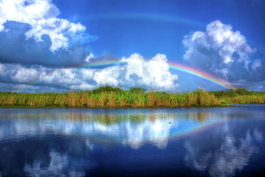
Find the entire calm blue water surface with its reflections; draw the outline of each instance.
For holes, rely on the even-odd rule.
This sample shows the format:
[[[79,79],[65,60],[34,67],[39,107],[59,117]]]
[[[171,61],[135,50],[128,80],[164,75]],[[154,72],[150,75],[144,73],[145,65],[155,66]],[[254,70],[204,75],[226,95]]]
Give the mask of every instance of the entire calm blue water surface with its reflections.
[[[260,175],[264,108],[2,108],[0,177]]]

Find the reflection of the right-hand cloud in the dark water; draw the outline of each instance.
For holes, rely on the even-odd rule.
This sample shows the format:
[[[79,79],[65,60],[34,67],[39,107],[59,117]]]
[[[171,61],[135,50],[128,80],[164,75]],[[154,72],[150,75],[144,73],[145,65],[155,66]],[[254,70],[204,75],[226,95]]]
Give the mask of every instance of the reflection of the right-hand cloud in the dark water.
[[[210,176],[234,176],[236,170],[241,171],[248,165],[251,155],[259,152],[253,140],[261,137],[256,128],[251,134],[250,127],[241,129],[241,136],[237,137],[238,130],[233,128],[227,123],[216,129],[214,135],[205,136],[200,143],[198,139],[186,140],[185,164],[199,171],[207,170]],[[216,135],[223,136],[221,144],[216,140],[220,137],[213,137]]]

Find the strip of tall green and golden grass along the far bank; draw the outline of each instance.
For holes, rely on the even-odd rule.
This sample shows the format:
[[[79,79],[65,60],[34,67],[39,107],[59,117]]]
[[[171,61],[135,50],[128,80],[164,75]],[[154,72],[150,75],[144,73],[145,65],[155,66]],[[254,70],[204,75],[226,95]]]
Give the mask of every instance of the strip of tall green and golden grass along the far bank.
[[[222,101],[228,103],[264,103],[265,93],[216,97],[204,89],[182,93],[149,91],[113,92],[74,91],[67,93],[11,93],[0,92],[0,106],[72,106],[72,107],[178,107],[178,106],[218,106]]]

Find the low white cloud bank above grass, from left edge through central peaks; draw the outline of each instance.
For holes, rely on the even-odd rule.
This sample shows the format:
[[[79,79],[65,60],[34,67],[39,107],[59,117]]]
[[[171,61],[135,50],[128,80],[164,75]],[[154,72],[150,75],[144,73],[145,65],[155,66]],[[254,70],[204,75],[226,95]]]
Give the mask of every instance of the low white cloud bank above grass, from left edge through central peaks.
[[[0,64],[0,82],[3,91],[6,91],[5,88],[17,91],[33,83],[34,87],[23,90],[29,92],[69,91],[74,88],[89,90],[105,85],[122,89],[140,86],[164,91],[175,91],[178,88],[178,76],[169,72],[164,54],[157,54],[150,61],[146,61],[143,56],[135,53],[121,61],[127,63],[105,68],[80,69],[25,67],[21,64],[3,63]]]

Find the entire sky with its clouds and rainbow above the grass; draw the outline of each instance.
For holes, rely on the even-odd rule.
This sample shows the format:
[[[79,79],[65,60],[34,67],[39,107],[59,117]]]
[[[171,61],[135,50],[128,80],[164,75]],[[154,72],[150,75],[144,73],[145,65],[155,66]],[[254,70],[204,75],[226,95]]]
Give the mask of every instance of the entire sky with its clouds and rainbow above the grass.
[[[265,91],[264,6],[1,0],[0,91]]]

